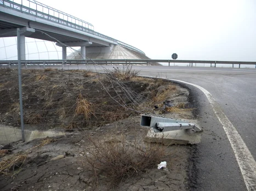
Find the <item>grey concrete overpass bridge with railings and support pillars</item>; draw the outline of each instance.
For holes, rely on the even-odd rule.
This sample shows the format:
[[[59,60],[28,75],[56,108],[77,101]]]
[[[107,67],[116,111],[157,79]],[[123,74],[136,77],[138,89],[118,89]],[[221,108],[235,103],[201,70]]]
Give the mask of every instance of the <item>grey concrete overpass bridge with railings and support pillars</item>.
[[[17,3],[18,2],[18,3]],[[80,46],[86,53],[111,52],[115,45],[145,53],[134,46],[94,31],[91,23],[34,0],[0,0],[0,37],[16,37],[20,28],[21,60],[26,59],[25,37],[56,42],[67,58],[67,46]]]

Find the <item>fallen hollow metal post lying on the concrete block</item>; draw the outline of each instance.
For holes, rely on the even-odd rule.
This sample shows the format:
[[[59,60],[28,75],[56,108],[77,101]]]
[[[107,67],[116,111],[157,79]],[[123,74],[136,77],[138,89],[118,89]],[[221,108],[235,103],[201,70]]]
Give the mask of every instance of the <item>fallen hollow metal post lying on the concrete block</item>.
[[[202,131],[202,129],[197,127],[194,123],[147,115],[141,115],[140,126],[153,128],[155,133],[180,129],[194,129],[196,132]]]

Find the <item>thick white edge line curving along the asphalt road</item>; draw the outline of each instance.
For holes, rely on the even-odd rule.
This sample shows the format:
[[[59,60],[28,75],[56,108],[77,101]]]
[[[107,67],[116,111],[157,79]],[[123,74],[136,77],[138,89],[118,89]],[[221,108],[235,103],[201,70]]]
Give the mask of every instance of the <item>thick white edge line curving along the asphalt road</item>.
[[[152,77],[152,76],[146,76],[146,77]],[[197,87],[206,95],[207,99],[209,100],[209,103],[213,108],[215,115],[218,117],[220,123],[223,125],[223,129],[225,130],[227,138],[229,139],[231,147],[235,153],[235,157],[239,165],[239,168],[241,170],[243,180],[244,180],[244,183],[246,184],[247,190],[248,191],[256,190],[256,162],[251,152],[247,148],[246,144],[244,143],[243,139],[237,132],[236,128],[229,121],[229,118],[226,117],[219,103],[215,101],[212,94],[208,92],[206,89],[204,89],[203,87],[195,85],[194,83],[189,83],[189,82],[174,80],[174,79],[168,79],[168,80],[186,83],[188,85]]]

